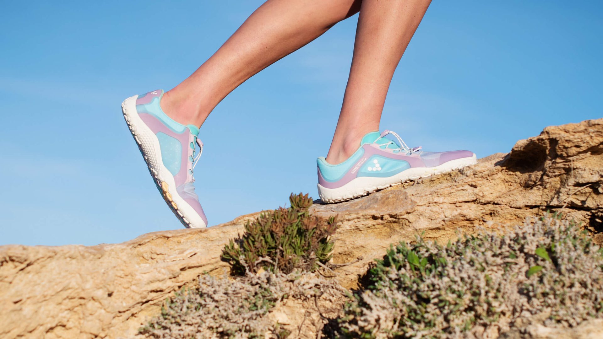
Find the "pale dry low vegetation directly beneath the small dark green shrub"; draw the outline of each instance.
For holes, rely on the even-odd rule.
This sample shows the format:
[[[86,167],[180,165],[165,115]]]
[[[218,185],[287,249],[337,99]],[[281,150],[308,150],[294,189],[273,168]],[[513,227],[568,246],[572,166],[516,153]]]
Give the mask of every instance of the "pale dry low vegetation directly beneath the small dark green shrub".
[[[306,300],[342,294],[334,280],[314,274],[264,271],[236,279],[199,278],[191,290],[166,300],[161,315],[139,330],[151,338],[283,339],[291,331],[267,317],[283,299]]]

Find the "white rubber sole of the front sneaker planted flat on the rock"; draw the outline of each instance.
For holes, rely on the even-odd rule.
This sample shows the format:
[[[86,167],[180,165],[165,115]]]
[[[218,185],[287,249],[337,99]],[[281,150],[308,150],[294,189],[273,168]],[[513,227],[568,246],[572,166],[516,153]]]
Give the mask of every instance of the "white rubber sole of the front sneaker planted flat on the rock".
[[[326,188],[319,183],[318,195],[320,196],[320,200],[325,203],[338,203],[362,197],[362,195],[367,195],[390,186],[396,186],[410,180],[431,177],[435,174],[457,170],[464,166],[475,165],[477,162],[477,157],[473,154],[472,157],[450,160],[437,167],[409,168],[391,177],[358,177],[339,188]]]

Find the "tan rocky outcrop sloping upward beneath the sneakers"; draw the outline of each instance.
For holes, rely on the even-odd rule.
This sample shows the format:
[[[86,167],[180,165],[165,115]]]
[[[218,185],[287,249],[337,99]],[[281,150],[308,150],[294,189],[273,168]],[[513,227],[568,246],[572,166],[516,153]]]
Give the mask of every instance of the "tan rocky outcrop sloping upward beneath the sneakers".
[[[603,242],[602,167],[597,119],[547,127],[509,154],[311,211],[339,215],[333,262],[355,261],[336,271],[350,288],[393,242],[419,234],[445,242],[458,231],[502,230],[547,210],[570,215]],[[224,244],[256,215],[122,244],[2,246],[0,337],[131,337],[172,292],[202,273],[226,273]]]

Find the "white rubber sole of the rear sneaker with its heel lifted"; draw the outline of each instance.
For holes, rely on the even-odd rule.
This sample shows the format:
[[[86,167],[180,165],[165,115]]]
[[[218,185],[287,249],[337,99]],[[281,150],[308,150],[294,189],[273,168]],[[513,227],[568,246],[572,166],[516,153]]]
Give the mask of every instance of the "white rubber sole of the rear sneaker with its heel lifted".
[[[136,141],[140,153],[142,153],[145,162],[147,162],[149,172],[154,178],[157,189],[159,189],[169,208],[185,227],[207,227],[197,211],[176,192],[174,176],[163,165],[159,139],[157,139],[155,133],[140,119],[140,116],[136,112],[137,98],[138,95],[134,95],[134,97],[124,100],[121,104],[121,110],[124,113],[125,122],[128,124],[128,128],[130,128],[134,141]]]

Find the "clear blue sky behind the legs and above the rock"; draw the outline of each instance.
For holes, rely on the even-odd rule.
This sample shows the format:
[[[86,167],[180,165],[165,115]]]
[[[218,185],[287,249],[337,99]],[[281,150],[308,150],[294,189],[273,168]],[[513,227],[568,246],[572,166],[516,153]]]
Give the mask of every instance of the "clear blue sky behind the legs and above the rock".
[[[123,121],[171,89],[262,1],[10,1],[0,11],[0,244],[94,245],[179,229]],[[601,118],[603,3],[434,1],[381,128],[426,150],[506,152]],[[201,128],[210,225],[317,197],[358,16],[242,84]],[[227,141],[226,143],[224,141]]]

